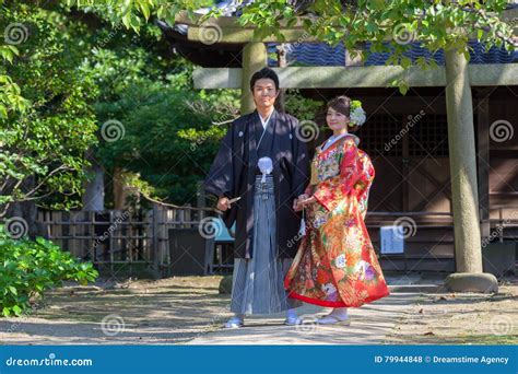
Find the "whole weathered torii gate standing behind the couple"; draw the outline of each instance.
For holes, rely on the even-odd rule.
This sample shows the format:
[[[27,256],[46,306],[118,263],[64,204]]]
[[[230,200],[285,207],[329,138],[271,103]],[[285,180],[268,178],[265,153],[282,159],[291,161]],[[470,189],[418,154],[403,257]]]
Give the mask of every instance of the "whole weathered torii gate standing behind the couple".
[[[302,22],[281,30],[284,36],[279,40],[274,36],[257,39],[254,28],[244,28],[234,16],[210,19],[200,24],[200,16],[188,17],[183,12],[176,22],[188,25],[187,38],[207,43],[203,35],[208,27],[217,32],[217,43],[245,44],[243,68],[199,68],[195,71],[196,89],[240,89],[240,112],[254,109],[249,90],[251,74],[268,66],[268,52],[264,43],[310,43],[318,42],[303,28]],[[339,89],[339,87],[387,87],[395,79],[403,78],[409,86],[444,86],[448,117],[448,147],[451,175],[452,213],[455,232],[455,256],[457,273],[450,274],[446,285],[451,291],[497,292],[497,280],[491,273],[482,271],[481,219],[488,218],[488,185],[481,184],[484,207],[479,210],[476,178],[475,141],[473,129],[473,109],[471,87],[517,85],[518,65],[494,63],[469,66],[463,55],[446,50],[446,67],[423,71],[417,67],[403,70],[395,66],[345,66],[345,67],[284,67],[273,68],[279,74],[283,89]],[[487,110],[482,122],[488,128]],[[484,131],[487,135],[487,131]],[[488,139],[479,156],[488,154]],[[484,159],[482,159],[484,162]],[[487,163],[481,164],[487,170]],[[488,225],[483,225],[488,234]]]

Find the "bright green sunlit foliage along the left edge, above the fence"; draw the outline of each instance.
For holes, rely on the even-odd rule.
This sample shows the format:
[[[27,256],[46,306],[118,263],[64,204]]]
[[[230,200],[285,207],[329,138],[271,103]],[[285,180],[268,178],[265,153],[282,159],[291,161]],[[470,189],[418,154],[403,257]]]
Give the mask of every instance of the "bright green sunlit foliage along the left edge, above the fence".
[[[82,191],[84,154],[96,141],[91,103],[97,90],[80,69],[84,26],[25,4],[1,11],[1,28],[19,27],[24,42],[16,54],[10,48],[13,63],[3,67],[4,89],[13,94],[0,97],[16,104],[0,108],[0,217],[13,201],[46,198],[48,207],[71,208]]]

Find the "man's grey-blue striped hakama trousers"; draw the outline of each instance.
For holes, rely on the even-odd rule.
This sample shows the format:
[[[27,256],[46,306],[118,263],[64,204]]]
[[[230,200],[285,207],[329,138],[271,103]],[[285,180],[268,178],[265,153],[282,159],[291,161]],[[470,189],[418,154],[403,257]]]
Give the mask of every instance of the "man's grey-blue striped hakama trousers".
[[[236,258],[234,265],[231,312],[271,314],[301,305],[287,299],[284,277],[292,258],[278,258],[273,177],[261,183],[256,177],[254,194],[252,258]]]

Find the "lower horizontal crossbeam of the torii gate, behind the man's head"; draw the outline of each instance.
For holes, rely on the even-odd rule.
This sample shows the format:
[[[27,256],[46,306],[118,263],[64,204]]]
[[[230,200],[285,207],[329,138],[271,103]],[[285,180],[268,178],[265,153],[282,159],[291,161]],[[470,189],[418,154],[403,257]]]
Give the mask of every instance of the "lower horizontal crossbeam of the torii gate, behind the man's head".
[[[409,86],[446,86],[444,67],[404,71],[395,66],[369,67],[287,67],[273,68],[282,89],[387,87],[403,78]],[[518,85],[518,63],[470,65],[471,86]],[[193,74],[196,89],[240,89],[239,68],[199,68]]]

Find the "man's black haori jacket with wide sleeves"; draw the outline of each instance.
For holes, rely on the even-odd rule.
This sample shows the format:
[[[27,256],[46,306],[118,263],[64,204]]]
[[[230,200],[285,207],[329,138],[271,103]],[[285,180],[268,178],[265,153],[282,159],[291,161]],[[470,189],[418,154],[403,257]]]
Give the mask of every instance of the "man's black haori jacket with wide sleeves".
[[[309,183],[307,147],[297,137],[296,118],[274,110],[267,132],[257,149],[263,127],[257,110],[232,124],[204,182],[208,194],[242,199],[223,214],[227,227],[236,222],[234,256],[254,256],[254,187],[259,156],[273,161],[278,257],[293,258],[298,248],[301,214],[293,211],[293,200]],[[299,139],[301,138],[301,139]],[[258,154],[258,151],[261,153]]]

